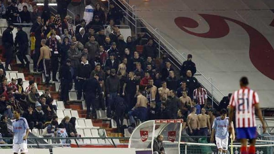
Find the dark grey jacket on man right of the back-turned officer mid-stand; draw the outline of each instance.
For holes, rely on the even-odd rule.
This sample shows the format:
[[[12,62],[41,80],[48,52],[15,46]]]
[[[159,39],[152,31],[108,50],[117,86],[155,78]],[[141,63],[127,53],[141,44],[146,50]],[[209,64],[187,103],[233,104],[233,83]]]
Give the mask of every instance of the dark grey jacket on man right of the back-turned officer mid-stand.
[[[106,78],[106,94],[119,92],[120,80],[117,76],[109,76]]]

